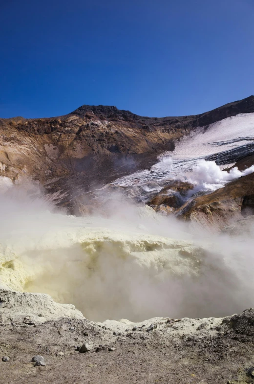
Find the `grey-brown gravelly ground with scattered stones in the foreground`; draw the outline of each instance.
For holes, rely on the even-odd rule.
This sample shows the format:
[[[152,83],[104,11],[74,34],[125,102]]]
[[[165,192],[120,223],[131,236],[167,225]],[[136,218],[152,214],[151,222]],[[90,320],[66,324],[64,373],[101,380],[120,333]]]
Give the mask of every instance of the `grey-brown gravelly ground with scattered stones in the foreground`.
[[[79,353],[84,344],[90,350]],[[23,326],[6,319],[0,323],[0,353],[10,361],[0,361],[0,382],[249,384],[253,347],[254,309],[224,318],[140,323],[60,318]]]

